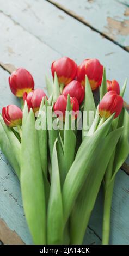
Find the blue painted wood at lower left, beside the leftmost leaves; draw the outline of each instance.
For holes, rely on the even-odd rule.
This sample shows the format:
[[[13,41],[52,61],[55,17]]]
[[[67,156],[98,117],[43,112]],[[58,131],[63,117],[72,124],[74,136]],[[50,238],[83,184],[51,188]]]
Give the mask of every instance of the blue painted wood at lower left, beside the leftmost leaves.
[[[26,219],[24,218],[20,184],[2,153],[0,153],[0,170],[0,218],[4,220],[9,229],[14,230],[25,243],[30,244],[32,243],[32,239],[29,234]]]

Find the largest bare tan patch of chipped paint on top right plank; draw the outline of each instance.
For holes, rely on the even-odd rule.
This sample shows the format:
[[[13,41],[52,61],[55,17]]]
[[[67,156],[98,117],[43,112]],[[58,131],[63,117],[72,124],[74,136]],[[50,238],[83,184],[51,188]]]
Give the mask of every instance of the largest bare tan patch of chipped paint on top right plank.
[[[113,39],[116,35],[129,35],[129,20],[117,21],[111,17],[107,17],[107,26],[109,34],[112,34]]]

